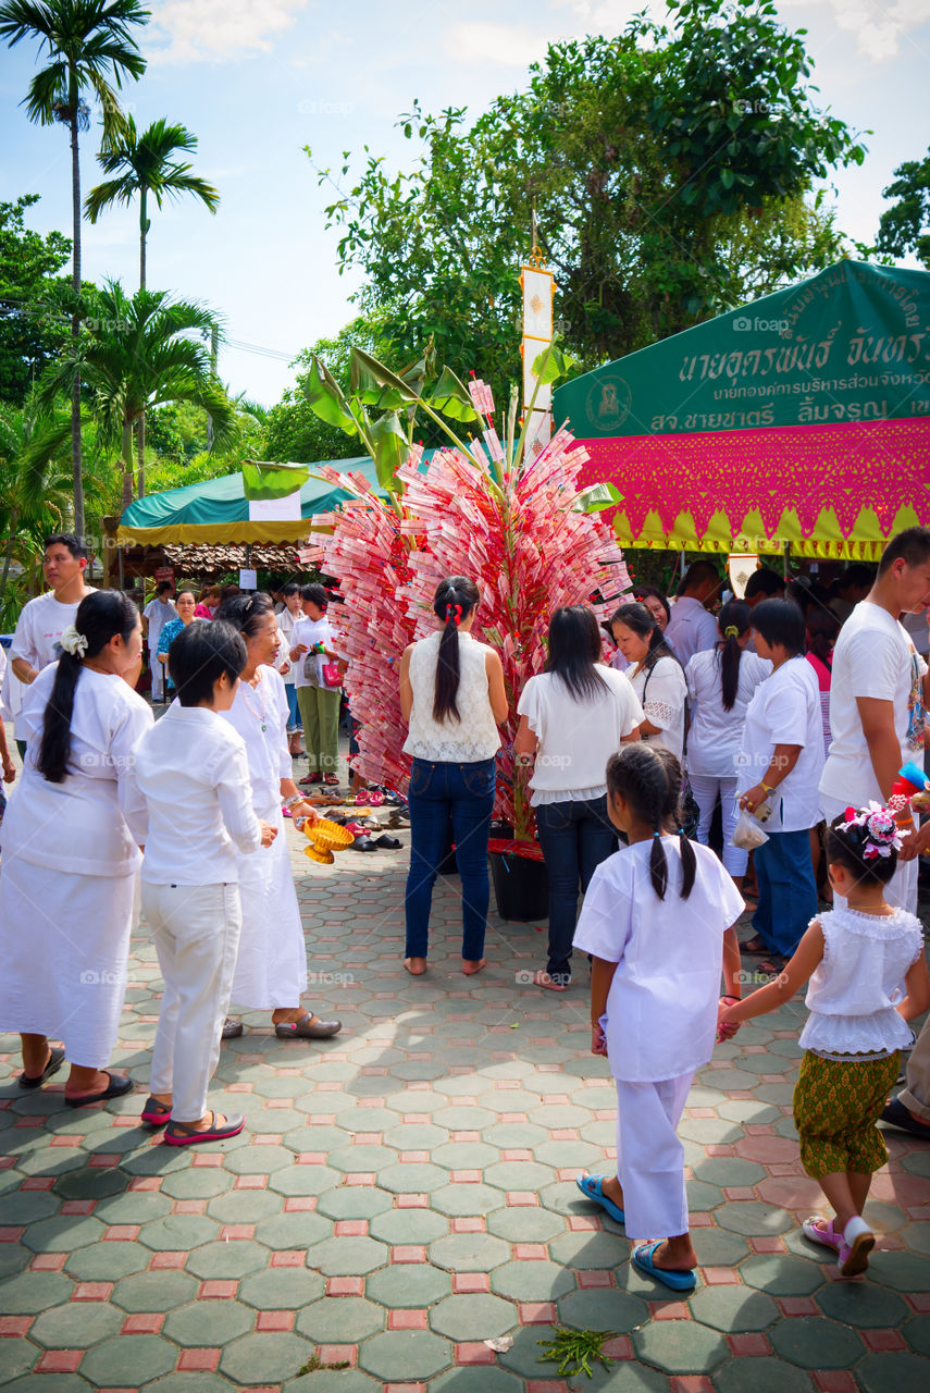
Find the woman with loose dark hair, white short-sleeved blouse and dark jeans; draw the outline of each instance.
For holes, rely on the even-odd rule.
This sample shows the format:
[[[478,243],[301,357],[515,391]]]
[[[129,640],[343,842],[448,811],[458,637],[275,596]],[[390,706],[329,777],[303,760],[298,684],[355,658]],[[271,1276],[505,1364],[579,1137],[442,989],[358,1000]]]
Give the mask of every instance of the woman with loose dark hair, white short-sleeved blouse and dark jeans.
[[[628,677],[600,662],[597,620],[583,605],[553,614],[546,671],[530,677],[517,709],[514,751],[535,756],[530,802],[549,871],[549,963],[533,981],[564,992],[578,885],[586,893],[597,866],[617,850],[607,815],[607,761],[639,740],[643,712]]]

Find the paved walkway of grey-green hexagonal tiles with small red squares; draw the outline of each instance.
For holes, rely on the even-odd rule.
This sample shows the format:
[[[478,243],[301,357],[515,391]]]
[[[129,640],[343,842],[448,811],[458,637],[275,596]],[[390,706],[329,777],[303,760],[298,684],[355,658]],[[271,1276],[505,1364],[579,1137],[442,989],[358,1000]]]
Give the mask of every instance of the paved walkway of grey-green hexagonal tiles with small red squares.
[[[798,1229],[817,1205],[792,1139],[801,1000],[696,1081],[682,1135],[700,1283],[668,1298],[575,1188],[614,1144],[586,971],[564,997],[526,985],[543,936],[496,919],[487,970],[461,976],[452,880],[412,981],[405,851],[309,866],[288,836],[315,1000],[345,1028],[281,1042],[251,1018],[217,1081],[242,1137],[171,1152],[138,1126],[160,988],[145,935],[114,1059],[135,1096],[65,1112],[58,1080],[24,1095],[0,1055],[0,1386],[927,1393],[930,1146],[888,1134],[880,1251],[867,1280],[837,1280]],[[614,1332],[615,1362],[561,1379],[540,1362],[554,1323]],[[510,1348],[484,1343],[501,1336]]]

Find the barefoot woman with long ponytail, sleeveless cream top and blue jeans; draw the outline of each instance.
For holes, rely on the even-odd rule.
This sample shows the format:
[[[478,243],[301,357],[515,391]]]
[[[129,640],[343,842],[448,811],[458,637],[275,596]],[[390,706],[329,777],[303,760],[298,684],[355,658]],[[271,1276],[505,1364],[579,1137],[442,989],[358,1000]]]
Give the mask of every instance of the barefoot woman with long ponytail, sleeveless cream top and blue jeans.
[[[426,971],[433,885],[450,819],[462,878],[462,972],[484,967],[487,837],[507,692],[498,655],[472,638],[479,598],[465,575],[440,581],[433,596],[440,628],[411,644],[401,660],[401,710],[409,723],[404,749],[413,758],[404,967],[413,976]]]

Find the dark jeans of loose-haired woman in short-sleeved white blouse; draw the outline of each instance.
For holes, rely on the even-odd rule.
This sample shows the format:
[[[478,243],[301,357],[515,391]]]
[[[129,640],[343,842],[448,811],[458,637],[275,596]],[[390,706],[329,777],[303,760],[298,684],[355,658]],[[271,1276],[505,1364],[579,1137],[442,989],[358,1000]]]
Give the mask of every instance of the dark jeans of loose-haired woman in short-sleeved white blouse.
[[[589,802],[569,798],[542,802],[536,808],[536,832],[549,872],[546,971],[562,986],[568,986],[579,882],[582,892],[586,890],[601,861],[617,850],[617,832],[607,816],[607,795]]]

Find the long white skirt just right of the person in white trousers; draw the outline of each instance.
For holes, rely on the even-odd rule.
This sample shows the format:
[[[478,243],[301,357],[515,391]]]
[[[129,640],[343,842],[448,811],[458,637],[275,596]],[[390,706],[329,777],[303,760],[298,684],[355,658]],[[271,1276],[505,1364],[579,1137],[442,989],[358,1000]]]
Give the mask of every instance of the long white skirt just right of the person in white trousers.
[[[249,1011],[299,1006],[306,990],[304,925],[280,812],[277,825],[270,847],[237,853],[242,933],[231,999]]]

